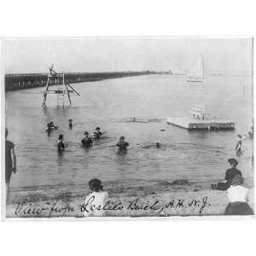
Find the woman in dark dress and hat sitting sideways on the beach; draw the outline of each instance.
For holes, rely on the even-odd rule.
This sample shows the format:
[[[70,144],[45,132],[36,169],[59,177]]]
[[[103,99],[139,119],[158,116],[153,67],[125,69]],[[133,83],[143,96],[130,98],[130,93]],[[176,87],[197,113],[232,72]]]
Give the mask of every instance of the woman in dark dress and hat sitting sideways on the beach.
[[[230,158],[228,159],[228,162],[230,163],[231,168],[226,171],[224,182],[212,185],[212,189],[227,190],[230,188],[232,179],[236,175],[241,176],[241,171],[236,169],[236,166],[238,165],[237,160],[235,158]]]

